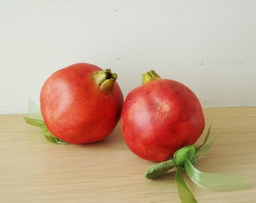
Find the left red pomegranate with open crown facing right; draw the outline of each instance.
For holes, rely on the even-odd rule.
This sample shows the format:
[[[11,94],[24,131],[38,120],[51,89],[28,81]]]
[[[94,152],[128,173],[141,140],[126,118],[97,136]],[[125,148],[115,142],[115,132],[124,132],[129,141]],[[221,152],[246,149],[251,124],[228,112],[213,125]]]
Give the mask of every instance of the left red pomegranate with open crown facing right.
[[[41,114],[48,130],[72,144],[101,141],[120,119],[123,94],[116,74],[78,63],[54,72],[41,88]]]

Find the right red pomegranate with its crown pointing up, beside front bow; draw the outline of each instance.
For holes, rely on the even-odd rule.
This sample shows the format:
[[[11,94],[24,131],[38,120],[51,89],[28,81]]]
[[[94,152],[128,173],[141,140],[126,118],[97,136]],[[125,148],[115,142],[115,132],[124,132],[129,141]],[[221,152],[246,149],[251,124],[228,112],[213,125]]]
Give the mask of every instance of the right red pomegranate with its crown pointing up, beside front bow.
[[[203,132],[205,120],[194,92],[149,71],[142,74],[142,86],[127,95],[120,125],[133,153],[162,162],[181,147],[194,144]]]

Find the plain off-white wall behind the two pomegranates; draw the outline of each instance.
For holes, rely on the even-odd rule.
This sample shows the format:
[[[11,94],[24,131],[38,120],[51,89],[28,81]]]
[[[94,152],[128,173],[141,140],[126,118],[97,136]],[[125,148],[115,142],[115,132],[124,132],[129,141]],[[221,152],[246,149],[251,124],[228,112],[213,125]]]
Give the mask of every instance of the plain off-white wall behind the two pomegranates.
[[[255,59],[256,1],[0,1],[0,114],[76,62],[111,68],[124,96],[154,69],[203,107],[256,105]]]

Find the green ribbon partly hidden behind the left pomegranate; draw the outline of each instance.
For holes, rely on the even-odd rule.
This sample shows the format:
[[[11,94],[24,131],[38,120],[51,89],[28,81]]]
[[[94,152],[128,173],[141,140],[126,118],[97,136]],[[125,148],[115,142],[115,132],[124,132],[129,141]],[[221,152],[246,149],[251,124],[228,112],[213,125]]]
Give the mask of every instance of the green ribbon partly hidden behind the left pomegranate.
[[[56,138],[48,129],[47,126],[44,123],[44,119],[40,113],[40,108],[38,108],[37,105],[35,105],[34,102],[32,102],[31,99],[29,99],[29,117],[24,117],[24,120],[26,120],[26,123],[39,127],[41,130],[41,133],[44,135],[44,138],[47,139],[47,141],[57,143],[57,144],[68,144],[66,141],[62,141],[59,138]]]

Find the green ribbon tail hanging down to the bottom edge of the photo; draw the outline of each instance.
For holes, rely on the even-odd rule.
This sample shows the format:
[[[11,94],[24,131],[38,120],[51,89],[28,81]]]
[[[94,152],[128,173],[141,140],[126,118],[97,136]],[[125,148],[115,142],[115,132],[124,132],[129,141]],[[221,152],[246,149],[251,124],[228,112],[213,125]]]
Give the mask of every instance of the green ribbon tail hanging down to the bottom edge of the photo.
[[[187,187],[183,177],[182,177],[182,167],[178,167],[175,173],[175,180],[178,187],[178,195],[181,198],[182,203],[197,203],[197,200],[194,198],[193,193]]]

